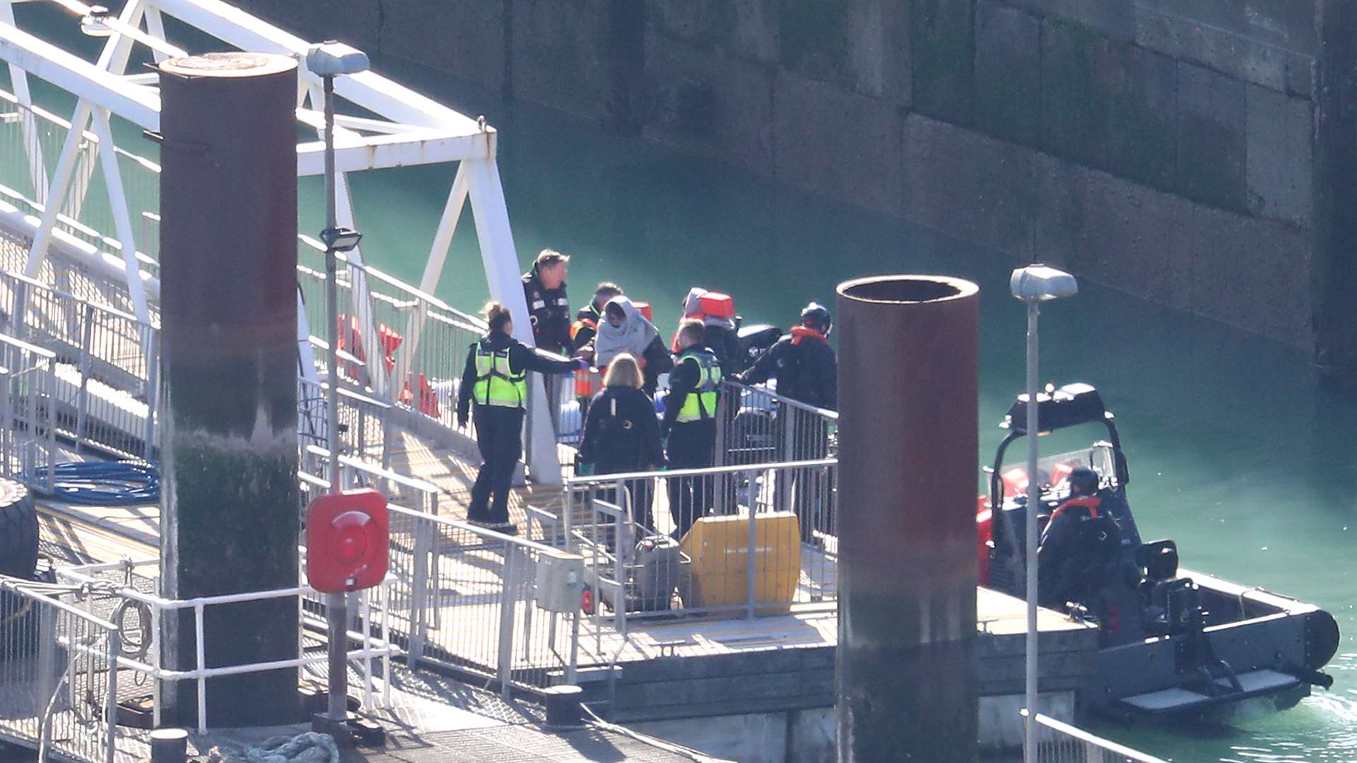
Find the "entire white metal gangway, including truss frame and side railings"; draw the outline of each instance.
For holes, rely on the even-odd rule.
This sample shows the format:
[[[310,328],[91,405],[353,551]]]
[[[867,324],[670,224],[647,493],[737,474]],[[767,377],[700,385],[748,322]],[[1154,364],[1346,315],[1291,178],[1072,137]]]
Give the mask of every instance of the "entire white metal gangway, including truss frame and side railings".
[[[26,29],[23,20],[33,15],[15,8],[24,1],[64,10],[69,34],[46,39],[41,30]],[[191,37],[191,43],[167,37],[167,18],[202,34]],[[73,52],[72,41],[81,39],[81,33],[104,38],[96,60]],[[73,371],[65,368],[72,364],[61,364],[68,383],[94,386],[99,401],[110,395],[132,399],[144,420],[142,429],[134,432],[142,445],[140,451],[118,452],[149,458],[159,398],[152,380],[160,322],[160,167],[151,141],[115,141],[117,136],[160,129],[157,75],[132,71],[133,54],[140,50],[159,62],[242,49],[299,58],[297,124],[316,136],[297,144],[297,175],[305,178],[323,172],[324,133],[322,80],[305,67],[309,48],[308,41],[220,0],[126,0],[111,12],[80,0],[0,0],[0,60],[11,83],[8,92],[0,91],[0,156],[5,157],[0,162],[0,270],[7,273],[0,288],[5,315],[0,319],[18,338],[58,354],[71,350],[62,357],[75,361]],[[35,102],[33,79],[73,96],[71,114],[58,115]],[[495,157],[498,132],[484,118],[460,114],[375,72],[337,77],[335,94],[341,225],[357,227],[350,175],[442,164],[449,166],[451,183],[438,224],[429,231],[430,247],[418,285],[372,267],[361,247],[341,255],[339,326],[327,326],[324,319],[324,247],[299,232],[299,377],[312,386],[335,382],[456,436],[452,388],[465,348],[484,324],[432,295],[468,206],[490,296],[514,314],[518,338],[532,342]],[[369,240],[368,246],[380,244]],[[35,305],[26,286],[15,285],[20,276],[45,286],[53,304]],[[104,323],[111,320],[107,311],[117,311],[118,320],[128,326],[118,331],[95,329],[85,337],[83,333],[90,333],[87,327],[94,322],[71,310],[100,311]],[[324,353],[318,352],[330,342],[345,350],[337,369],[326,368]],[[129,350],[140,358],[123,364],[136,365],[130,375],[106,373],[114,365],[104,362],[80,365],[87,357],[100,360]],[[546,409],[541,386],[533,391],[532,407]],[[315,434],[323,422],[312,417],[307,425]],[[528,470],[537,483],[559,483],[548,417],[532,417],[532,428],[525,452]]]

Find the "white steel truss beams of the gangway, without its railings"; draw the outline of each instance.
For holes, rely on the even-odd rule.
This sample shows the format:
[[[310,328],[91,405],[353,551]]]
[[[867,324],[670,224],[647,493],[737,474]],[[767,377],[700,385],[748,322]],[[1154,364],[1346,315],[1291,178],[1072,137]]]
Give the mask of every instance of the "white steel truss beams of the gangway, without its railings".
[[[14,5],[19,3],[49,3],[69,12],[72,31],[106,37],[96,61],[62,48],[61,41],[47,41],[16,23]],[[0,198],[0,227],[22,234],[31,246],[24,272],[30,277],[43,273],[43,262],[54,244],[62,243],[66,257],[83,259],[81,265],[104,277],[126,284],[130,311],[142,322],[153,322],[153,305],[159,301],[159,278],[155,247],[148,246],[147,221],[159,223],[159,208],[133,209],[129,205],[126,168],[136,164],[159,172],[153,163],[128,153],[114,144],[113,117],[125,119],[151,133],[160,130],[160,95],[155,72],[129,73],[129,60],[134,46],[149,49],[156,61],[180,54],[206,53],[209,49],[186,50],[166,37],[166,16],[220,41],[212,50],[239,49],[255,53],[277,53],[299,60],[297,121],[315,129],[316,140],[297,144],[297,175],[320,175],[324,167],[322,117],[322,80],[305,68],[305,53],[311,42],[292,35],[220,0],[128,0],[117,14],[107,12],[80,0],[0,0],[0,58],[9,69],[12,94],[0,94],[14,107],[11,122],[18,122],[23,136],[27,162],[28,193],[0,187],[0,193],[20,204]],[[33,103],[28,77],[45,80],[76,98],[73,114],[65,119],[54,117]],[[518,339],[532,343],[528,307],[518,277],[518,258],[514,248],[509,213],[505,205],[499,170],[495,162],[498,133],[484,118],[471,118],[448,109],[407,87],[375,72],[346,75],[335,80],[338,107],[345,102],[357,106],[365,115],[337,114],[335,166],[338,170],[338,221],[354,224],[353,198],[349,193],[349,172],[362,172],[388,167],[417,164],[456,164],[451,175],[451,189],[442,216],[430,231],[429,258],[418,293],[434,293],[446,262],[453,232],[461,210],[470,202],[479,242],[482,265],[490,296],[506,304],[514,316]],[[0,103],[0,107],[5,103]],[[66,126],[60,145],[60,156],[52,166],[54,145],[39,140],[41,119]],[[114,151],[99,151],[99,147]],[[99,183],[91,183],[96,170],[102,172],[107,189],[107,217],[111,229],[91,231],[80,242],[80,212],[85,194]],[[20,198],[22,197],[22,198]],[[159,197],[156,197],[157,200]],[[157,206],[157,201],[155,202]],[[84,227],[88,228],[88,227]],[[138,231],[140,228],[140,231]],[[140,236],[138,236],[140,232]],[[92,243],[91,243],[92,242]],[[350,267],[349,315],[357,324],[360,341],[366,348],[380,346],[379,323],[373,318],[373,297],[368,276],[362,269],[362,253],[349,254]],[[229,263],[224,263],[229,266]],[[300,300],[299,291],[299,300]],[[432,300],[432,297],[429,297]],[[434,300],[436,301],[436,300]],[[311,358],[311,327],[305,311],[299,310],[299,346],[303,375],[313,375]],[[373,391],[385,398],[399,398],[406,384],[411,358],[422,334],[423,311],[410,312],[403,326],[406,341],[391,354],[389,373],[369,375]],[[334,334],[330,331],[328,334]],[[356,342],[357,343],[357,342]],[[369,364],[380,365],[380,364]],[[309,369],[309,373],[308,373]],[[532,410],[546,411],[546,395],[535,386]],[[548,415],[531,415],[531,452],[525,455],[529,470],[539,482],[555,483],[560,479],[555,437]]]

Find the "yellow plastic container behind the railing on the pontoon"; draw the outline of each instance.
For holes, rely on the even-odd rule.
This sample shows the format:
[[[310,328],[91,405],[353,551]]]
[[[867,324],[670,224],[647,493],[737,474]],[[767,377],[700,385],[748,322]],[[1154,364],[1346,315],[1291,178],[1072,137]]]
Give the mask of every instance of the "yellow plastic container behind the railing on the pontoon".
[[[702,517],[683,538],[692,559],[685,607],[744,607],[749,592],[749,517]],[[754,600],[791,601],[801,580],[801,523],[791,512],[754,516]],[[776,610],[786,611],[786,606]],[[772,611],[760,607],[760,611]]]

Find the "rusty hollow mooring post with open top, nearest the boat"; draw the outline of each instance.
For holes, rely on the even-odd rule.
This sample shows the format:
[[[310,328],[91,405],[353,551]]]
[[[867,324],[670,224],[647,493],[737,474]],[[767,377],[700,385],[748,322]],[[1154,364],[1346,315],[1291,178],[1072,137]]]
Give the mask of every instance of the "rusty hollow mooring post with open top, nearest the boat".
[[[839,285],[839,760],[977,758],[978,289]]]

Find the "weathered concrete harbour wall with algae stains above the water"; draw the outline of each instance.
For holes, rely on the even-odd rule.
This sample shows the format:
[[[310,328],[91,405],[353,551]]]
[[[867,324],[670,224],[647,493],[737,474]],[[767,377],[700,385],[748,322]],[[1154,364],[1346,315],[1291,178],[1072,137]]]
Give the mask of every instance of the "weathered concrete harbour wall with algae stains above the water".
[[[237,1],[1357,368],[1345,3]]]

